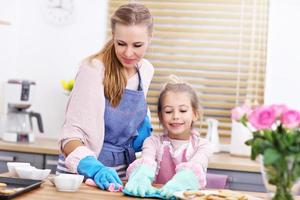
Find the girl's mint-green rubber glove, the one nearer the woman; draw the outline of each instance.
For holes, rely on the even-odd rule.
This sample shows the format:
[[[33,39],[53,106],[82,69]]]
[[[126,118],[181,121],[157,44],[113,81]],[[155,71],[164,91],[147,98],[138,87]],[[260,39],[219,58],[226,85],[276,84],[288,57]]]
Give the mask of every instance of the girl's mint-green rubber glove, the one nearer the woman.
[[[159,190],[152,186],[155,168],[147,165],[137,167],[130,175],[123,192],[132,196],[149,197],[159,194]]]

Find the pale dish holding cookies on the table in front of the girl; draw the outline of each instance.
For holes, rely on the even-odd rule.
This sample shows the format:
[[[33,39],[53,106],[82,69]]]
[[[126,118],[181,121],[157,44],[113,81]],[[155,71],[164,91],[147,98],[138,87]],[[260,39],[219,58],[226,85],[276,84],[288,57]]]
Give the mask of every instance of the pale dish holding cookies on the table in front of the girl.
[[[190,196],[186,196],[184,195],[184,192],[186,191],[179,191],[179,192],[175,192],[174,193],[174,196],[177,197],[178,199],[182,199],[182,200],[192,200],[192,199],[197,199],[197,200],[200,200],[200,199],[203,199],[205,200],[205,197],[202,196],[196,196],[196,195],[190,195]],[[236,192],[236,191],[233,191],[233,190],[195,190],[195,191],[189,191],[191,193],[203,193],[204,195],[209,195],[209,194],[228,194],[230,197],[234,197],[236,195],[242,195],[246,198],[232,198],[232,199],[236,199],[236,200],[262,200],[261,198],[258,198],[258,197],[253,197],[253,196],[250,196],[250,195],[247,195],[247,194],[243,194],[242,192]],[[231,195],[230,195],[231,194]],[[222,199],[222,198],[218,198],[218,199]],[[226,198],[224,198],[225,200]]]

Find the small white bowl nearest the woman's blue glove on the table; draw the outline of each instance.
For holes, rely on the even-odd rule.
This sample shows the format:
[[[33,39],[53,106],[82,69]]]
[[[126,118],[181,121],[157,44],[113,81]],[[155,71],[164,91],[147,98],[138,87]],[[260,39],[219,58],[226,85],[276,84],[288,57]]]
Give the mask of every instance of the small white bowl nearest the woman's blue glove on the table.
[[[58,191],[75,192],[83,181],[83,176],[78,174],[59,174],[54,177],[54,185]]]

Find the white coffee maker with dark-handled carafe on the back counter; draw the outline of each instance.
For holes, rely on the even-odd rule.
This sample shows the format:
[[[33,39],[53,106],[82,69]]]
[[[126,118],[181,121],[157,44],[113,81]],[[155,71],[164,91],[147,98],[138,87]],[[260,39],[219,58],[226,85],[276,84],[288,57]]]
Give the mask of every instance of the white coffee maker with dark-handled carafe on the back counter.
[[[30,80],[11,79],[5,85],[5,123],[2,139],[8,142],[35,141],[33,118],[36,118],[40,133],[43,133],[42,117],[28,111],[32,105],[36,84]]]

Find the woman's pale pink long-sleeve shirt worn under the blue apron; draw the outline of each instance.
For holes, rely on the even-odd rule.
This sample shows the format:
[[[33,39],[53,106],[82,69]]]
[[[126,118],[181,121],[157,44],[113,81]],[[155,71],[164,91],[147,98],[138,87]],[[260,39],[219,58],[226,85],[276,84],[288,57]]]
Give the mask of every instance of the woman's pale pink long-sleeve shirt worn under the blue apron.
[[[139,63],[145,96],[154,74],[152,64],[146,59]],[[65,164],[70,172],[77,172],[79,161],[92,155],[98,157],[104,140],[105,96],[103,87],[104,65],[98,59],[84,61],[76,75],[75,84],[70,94],[59,145],[62,151],[70,140],[80,140],[85,146],[70,153]],[[127,89],[137,89],[138,74],[127,81]]]

